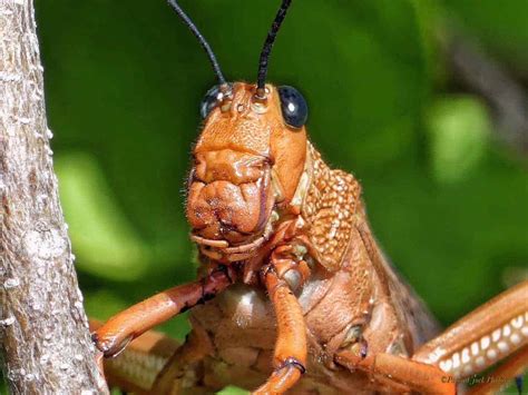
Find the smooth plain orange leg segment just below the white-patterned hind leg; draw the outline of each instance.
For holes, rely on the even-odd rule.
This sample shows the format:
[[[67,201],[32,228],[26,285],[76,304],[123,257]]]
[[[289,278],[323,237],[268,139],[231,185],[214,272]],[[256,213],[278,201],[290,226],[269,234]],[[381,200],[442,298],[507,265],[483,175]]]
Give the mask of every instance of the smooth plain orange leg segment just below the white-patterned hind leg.
[[[453,377],[437,366],[384,353],[362,356],[349,349],[338,352],[334,358],[351,372],[365,372],[373,381],[394,393],[413,391],[421,394],[456,394]]]

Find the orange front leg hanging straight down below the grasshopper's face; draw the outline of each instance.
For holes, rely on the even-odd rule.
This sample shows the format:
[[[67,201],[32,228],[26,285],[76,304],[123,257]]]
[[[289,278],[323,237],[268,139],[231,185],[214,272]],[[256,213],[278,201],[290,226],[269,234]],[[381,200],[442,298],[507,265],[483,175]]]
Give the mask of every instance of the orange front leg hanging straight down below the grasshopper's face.
[[[263,271],[263,279],[275,309],[277,340],[273,366],[267,382],[253,394],[282,394],[301,378],[306,366],[306,325],[296,297],[273,266]]]

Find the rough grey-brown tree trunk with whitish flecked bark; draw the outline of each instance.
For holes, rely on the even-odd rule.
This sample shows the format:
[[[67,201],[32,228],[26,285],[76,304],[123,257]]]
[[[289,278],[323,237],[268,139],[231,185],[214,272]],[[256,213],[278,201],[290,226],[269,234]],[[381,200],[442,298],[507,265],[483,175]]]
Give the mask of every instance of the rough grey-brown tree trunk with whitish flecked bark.
[[[105,383],[57,192],[31,0],[0,0],[0,340],[11,393]]]

